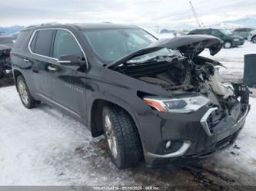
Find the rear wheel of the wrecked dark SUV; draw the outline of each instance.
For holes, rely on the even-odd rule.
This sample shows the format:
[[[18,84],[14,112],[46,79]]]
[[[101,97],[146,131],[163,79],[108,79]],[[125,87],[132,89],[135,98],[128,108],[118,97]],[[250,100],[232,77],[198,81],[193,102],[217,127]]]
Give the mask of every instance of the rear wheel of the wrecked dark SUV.
[[[36,104],[39,103],[30,94],[30,91],[28,90],[28,85],[26,84],[25,79],[22,75],[19,75],[17,77],[16,87],[18,90],[19,97],[22,100],[22,104],[25,107],[27,107],[28,109],[31,109],[31,108],[35,107]]]

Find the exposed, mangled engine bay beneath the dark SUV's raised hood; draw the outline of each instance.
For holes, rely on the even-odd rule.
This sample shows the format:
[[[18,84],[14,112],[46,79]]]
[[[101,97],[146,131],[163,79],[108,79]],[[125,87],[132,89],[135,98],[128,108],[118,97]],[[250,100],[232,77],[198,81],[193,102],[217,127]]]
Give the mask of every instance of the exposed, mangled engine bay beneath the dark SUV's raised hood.
[[[158,85],[172,94],[203,94],[211,100],[211,107],[219,108],[215,113],[220,117],[230,114],[238,104],[243,107],[243,101],[240,101],[242,94],[249,94],[245,87],[246,93],[238,91],[243,88],[243,84],[221,82],[221,67],[223,66],[218,61],[200,56],[158,56],[148,61],[120,64],[115,70],[140,81]]]

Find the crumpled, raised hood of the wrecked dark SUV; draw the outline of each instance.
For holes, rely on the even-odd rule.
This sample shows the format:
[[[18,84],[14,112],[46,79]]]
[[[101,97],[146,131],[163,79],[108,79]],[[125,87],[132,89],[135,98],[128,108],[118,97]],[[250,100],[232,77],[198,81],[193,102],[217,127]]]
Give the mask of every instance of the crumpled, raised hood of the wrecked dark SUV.
[[[176,38],[166,38],[159,41],[155,41],[146,48],[142,48],[127,56],[108,64],[108,68],[124,64],[131,59],[148,54],[154,51],[158,51],[162,48],[174,48],[181,51],[187,57],[194,57],[204,51],[204,48],[208,48],[210,54],[213,56],[221,50],[222,44],[219,38],[210,35],[186,35]]]

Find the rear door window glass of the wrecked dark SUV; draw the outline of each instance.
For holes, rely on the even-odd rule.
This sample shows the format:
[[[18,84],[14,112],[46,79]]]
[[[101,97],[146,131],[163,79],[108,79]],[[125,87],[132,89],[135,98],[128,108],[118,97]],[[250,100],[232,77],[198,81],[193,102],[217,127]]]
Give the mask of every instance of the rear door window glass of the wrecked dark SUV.
[[[33,42],[34,39],[32,40],[32,42],[35,43],[35,48],[33,49],[33,52],[43,56],[50,56],[52,35],[54,33],[54,30],[52,29],[40,30],[40,31],[37,31],[37,33],[38,34],[34,35],[34,38],[36,38],[35,42]]]

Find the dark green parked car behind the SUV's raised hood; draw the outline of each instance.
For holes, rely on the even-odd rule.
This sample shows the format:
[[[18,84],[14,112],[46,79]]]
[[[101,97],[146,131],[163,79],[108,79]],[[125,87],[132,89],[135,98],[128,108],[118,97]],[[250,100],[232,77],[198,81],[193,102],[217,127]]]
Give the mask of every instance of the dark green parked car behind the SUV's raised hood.
[[[221,39],[224,48],[234,48],[244,44],[244,38],[232,35],[231,31],[216,28],[199,28],[188,32],[188,35],[212,35]]]

